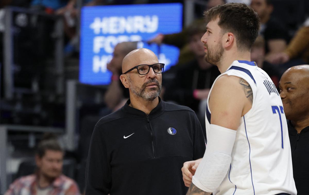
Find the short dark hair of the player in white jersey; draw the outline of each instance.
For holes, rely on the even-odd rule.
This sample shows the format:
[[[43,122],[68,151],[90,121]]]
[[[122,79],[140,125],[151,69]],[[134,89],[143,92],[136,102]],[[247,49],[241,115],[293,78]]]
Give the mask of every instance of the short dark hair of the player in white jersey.
[[[260,18],[244,3],[218,5],[205,11],[204,16],[206,23],[219,17],[218,25],[222,28],[222,33],[233,33],[240,50],[250,50],[259,34]]]

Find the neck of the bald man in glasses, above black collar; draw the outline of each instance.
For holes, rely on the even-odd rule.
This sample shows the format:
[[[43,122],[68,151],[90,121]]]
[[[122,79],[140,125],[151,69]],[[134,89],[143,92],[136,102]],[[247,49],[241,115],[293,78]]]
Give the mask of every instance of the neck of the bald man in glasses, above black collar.
[[[156,97],[154,100],[145,100],[144,98],[141,97],[136,97],[130,95],[130,104],[129,106],[141,110],[145,112],[145,114],[149,114],[151,110],[153,110],[156,106],[159,104],[159,98]]]

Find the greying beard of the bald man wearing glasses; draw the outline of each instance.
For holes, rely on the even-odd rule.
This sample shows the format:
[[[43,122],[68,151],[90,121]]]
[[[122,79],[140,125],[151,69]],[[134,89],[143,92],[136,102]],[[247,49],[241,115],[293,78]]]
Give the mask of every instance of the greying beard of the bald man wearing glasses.
[[[148,101],[153,101],[161,93],[162,83],[159,83],[159,81],[155,78],[149,79],[141,87],[134,86],[129,75],[128,75],[127,78],[128,78],[129,84],[130,84],[130,90],[138,97],[141,97],[141,98],[148,100]],[[153,87],[153,88],[147,89],[146,85],[148,85],[150,83],[156,83],[156,85],[158,87]]]

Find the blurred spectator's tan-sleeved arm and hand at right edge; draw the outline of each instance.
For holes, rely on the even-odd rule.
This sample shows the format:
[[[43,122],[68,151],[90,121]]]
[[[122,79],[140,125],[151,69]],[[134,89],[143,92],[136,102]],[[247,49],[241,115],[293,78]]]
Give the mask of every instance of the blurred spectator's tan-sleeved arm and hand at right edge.
[[[270,56],[269,61],[274,64],[284,64],[295,58],[302,58],[309,63],[309,18],[291,40],[284,52]]]

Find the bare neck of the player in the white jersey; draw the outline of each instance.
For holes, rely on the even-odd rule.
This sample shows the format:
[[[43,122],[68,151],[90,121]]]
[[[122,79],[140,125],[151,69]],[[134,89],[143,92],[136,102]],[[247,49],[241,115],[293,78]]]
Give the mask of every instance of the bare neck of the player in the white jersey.
[[[239,51],[225,52],[222,56],[222,59],[220,60],[220,62],[218,64],[218,68],[219,68],[220,73],[226,72],[227,68],[229,68],[235,60],[251,61],[250,51],[246,51],[246,52],[239,52]]]

